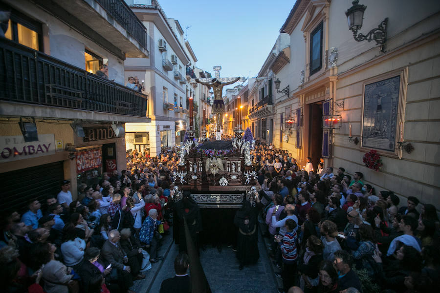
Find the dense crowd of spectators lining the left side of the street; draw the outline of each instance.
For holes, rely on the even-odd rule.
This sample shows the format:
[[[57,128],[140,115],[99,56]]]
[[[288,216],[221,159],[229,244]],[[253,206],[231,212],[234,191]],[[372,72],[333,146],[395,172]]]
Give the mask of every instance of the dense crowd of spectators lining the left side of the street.
[[[103,173],[72,197],[70,181],[22,215],[1,217],[0,278],[5,292],[131,292],[159,262],[170,237],[167,207],[176,152],[127,153],[127,170]]]

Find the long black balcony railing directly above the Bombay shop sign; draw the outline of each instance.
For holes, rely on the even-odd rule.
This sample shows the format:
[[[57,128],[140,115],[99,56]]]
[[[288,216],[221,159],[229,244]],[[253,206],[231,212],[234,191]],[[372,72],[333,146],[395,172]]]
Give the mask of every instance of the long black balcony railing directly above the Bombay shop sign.
[[[0,100],[148,117],[148,96],[5,39]]]

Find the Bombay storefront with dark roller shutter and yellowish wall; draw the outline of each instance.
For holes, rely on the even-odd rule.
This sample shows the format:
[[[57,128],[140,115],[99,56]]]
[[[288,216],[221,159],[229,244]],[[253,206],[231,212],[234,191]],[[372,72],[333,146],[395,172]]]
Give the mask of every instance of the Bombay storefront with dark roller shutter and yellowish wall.
[[[47,195],[61,190],[64,179],[72,179],[69,153],[64,148],[66,142],[72,142],[72,128],[48,120],[23,123],[31,126],[23,128],[23,133],[19,119],[0,124],[0,212],[23,212],[32,198],[44,204]],[[29,141],[33,140],[30,136],[36,140]]]

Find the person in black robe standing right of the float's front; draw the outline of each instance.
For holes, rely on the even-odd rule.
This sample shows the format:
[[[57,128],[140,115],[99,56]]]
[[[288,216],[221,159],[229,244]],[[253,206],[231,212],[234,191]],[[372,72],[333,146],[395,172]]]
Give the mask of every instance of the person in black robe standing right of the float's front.
[[[243,201],[242,209],[235,214],[234,224],[239,228],[237,237],[237,258],[240,262],[240,270],[245,265],[252,265],[258,261],[258,221],[257,216],[261,203],[252,207],[247,200]]]

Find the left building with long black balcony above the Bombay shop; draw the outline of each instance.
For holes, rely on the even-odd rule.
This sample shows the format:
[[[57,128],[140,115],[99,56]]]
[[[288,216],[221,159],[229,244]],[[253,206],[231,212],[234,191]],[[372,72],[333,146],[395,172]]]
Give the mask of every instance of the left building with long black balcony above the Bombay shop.
[[[151,121],[148,96],[124,86],[123,64],[149,58],[147,29],[122,0],[1,8],[11,16],[0,38],[0,209],[25,209],[65,179],[76,197],[78,186],[125,169],[124,124]]]

